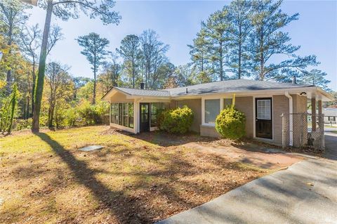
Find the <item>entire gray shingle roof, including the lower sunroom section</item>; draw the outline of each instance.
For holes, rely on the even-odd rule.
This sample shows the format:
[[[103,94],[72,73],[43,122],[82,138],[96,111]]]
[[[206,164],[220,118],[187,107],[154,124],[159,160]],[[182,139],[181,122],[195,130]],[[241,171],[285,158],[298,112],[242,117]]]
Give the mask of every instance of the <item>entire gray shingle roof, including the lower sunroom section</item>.
[[[142,95],[154,97],[169,97],[180,95],[199,95],[209,93],[233,93],[242,91],[261,91],[282,88],[310,87],[312,85],[300,85],[291,83],[279,83],[273,81],[256,81],[249,79],[231,79],[225,81],[214,81],[207,84],[197,84],[179,88],[167,88],[164,90],[147,90],[138,88],[114,87],[128,95]],[[187,88],[187,93],[186,93]]]

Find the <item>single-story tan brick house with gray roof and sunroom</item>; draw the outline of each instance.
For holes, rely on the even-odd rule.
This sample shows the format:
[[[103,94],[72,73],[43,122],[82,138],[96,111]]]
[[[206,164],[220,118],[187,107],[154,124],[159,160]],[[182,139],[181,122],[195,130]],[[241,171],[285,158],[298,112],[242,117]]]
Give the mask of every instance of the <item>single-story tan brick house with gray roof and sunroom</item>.
[[[304,113],[308,99],[322,113],[322,101],[331,95],[312,85],[232,79],[180,88],[147,90],[113,87],[103,96],[111,103],[110,126],[140,133],[157,130],[157,112],[187,105],[194,112],[192,131],[218,137],[215,119],[232,104],[246,114],[246,136],[282,144],[282,114]],[[292,142],[292,134],[289,136]]]

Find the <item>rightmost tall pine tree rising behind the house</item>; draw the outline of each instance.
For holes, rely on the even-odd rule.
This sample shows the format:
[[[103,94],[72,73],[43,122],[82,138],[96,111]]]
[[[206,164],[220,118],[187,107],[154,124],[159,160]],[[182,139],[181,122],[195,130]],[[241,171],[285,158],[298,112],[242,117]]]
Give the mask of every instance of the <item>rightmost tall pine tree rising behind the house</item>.
[[[300,46],[289,44],[291,38],[280,29],[298,20],[298,13],[287,15],[280,9],[282,0],[255,0],[252,1],[253,15],[251,23],[253,31],[249,41],[251,54],[251,72],[260,80],[284,79],[293,69],[304,70],[308,65],[317,65],[316,57],[310,55],[304,58],[295,53]],[[272,63],[273,56],[284,55],[289,59]],[[282,71],[283,74],[279,74]]]

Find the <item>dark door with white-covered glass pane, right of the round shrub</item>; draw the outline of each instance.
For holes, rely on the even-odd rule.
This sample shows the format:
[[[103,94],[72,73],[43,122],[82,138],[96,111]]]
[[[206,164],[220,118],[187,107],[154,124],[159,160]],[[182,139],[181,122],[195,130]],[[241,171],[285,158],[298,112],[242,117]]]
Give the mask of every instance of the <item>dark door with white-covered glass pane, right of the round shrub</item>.
[[[272,98],[256,98],[256,137],[272,139]]]

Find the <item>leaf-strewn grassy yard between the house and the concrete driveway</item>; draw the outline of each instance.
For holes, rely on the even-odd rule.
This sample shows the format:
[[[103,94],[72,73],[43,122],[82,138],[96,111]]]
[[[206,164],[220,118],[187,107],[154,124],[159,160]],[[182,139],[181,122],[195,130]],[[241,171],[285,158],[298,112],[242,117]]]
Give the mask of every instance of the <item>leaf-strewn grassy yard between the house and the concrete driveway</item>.
[[[1,137],[0,223],[153,223],[270,172],[180,146],[211,139],[157,136],[90,126]]]

